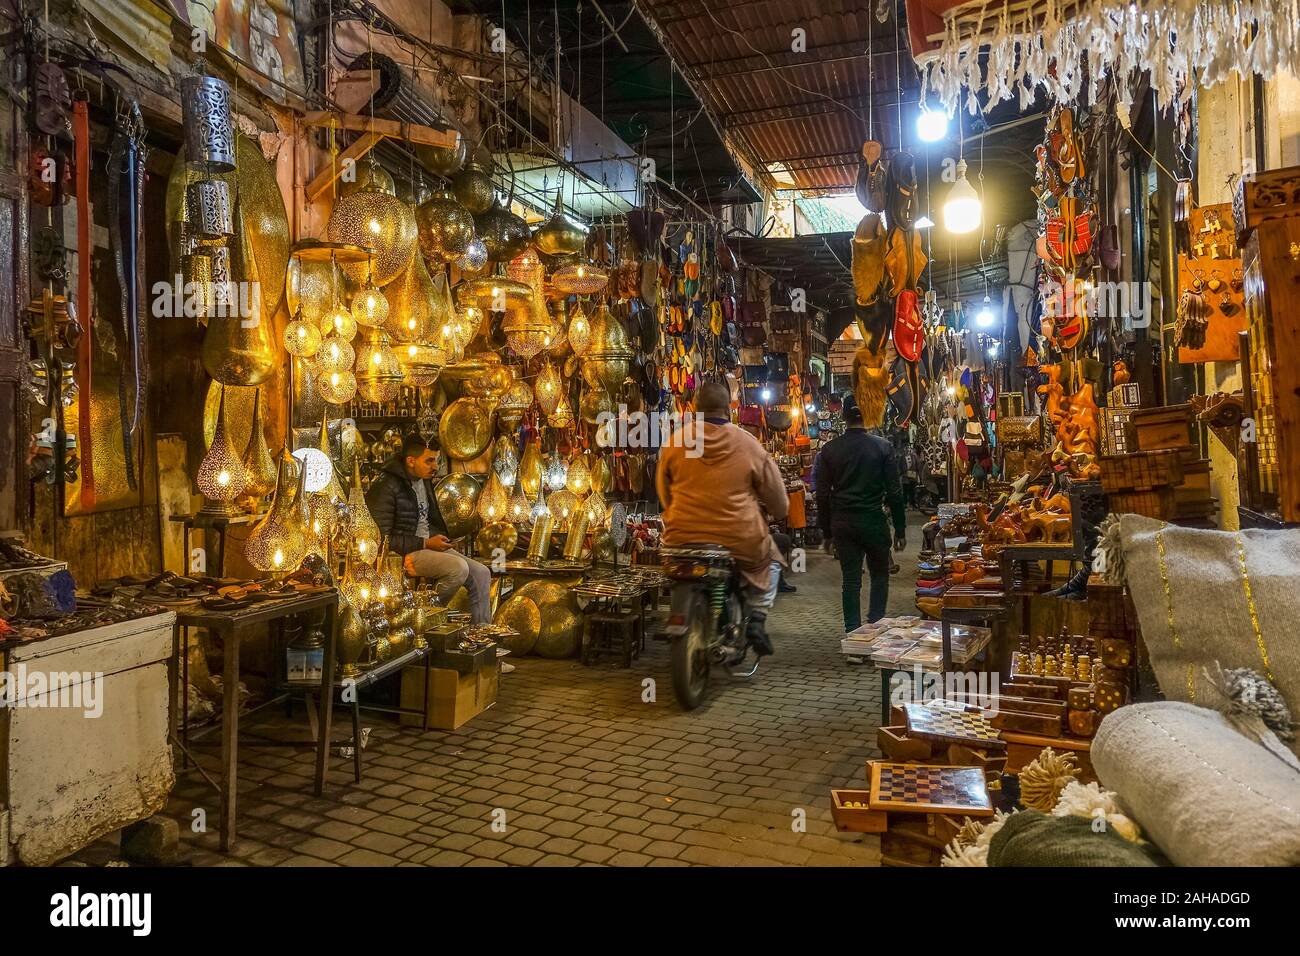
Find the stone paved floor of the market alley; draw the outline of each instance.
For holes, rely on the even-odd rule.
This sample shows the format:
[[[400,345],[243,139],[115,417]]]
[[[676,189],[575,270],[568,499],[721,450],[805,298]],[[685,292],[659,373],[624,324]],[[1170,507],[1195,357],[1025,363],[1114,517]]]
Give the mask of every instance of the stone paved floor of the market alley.
[[[890,613],[913,607],[909,535]],[[749,682],[715,678],[698,710],[673,698],[667,645],[647,641],[630,670],[523,658],[498,704],[458,732],[417,732],[373,715],[361,783],[334,761],[325,799],[312,754],[240,753],[239,842],[216,829],[214,793],[190,775],[168,812],[195,865],[872,865],[875,836],[840,834],[829,790],[861,786],[879,756],[874,670],[840,657],[838,567],[809,554],[770,630],[777,648]],[[656,700],[642,702],[642,680]],[[296,727],[303,718],[298,711]],[[276,717],[273,723],[287,723]],[[494,832],[494,810],[504,832]],[[797,810],[806,831],[796,832]],[[500,814],[497,814],[498,817]]]

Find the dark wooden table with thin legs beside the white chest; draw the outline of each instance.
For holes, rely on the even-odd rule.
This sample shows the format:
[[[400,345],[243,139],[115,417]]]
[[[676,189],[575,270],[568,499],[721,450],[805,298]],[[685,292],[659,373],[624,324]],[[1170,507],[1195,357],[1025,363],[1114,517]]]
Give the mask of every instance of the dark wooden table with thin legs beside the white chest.
[[[168,728],[176,741],[176,706],[178,676],[182,653],[181,631],[187,627],[203,627],[221,639],[224,646],[222,663],[222,706],[221,706],[221,774],[220,782],[204,777],[221,795],[221,849],[229,851],[235,840],[235,801],[238,796],[239,763],[239,645],[243,639],[263,624],[285,618],[325,610],[325,661],[321,667],[318,728],[316,734],[316,796],[325,788],[325,767],[329,761],[330,724],[334,717],[334,645],[338,630],[338,592],[330,589],[316,594],[300,594],[282,600],[270,600],[230,611],[208,610],[200,604],[176,609],[176,627],[172,635],[170,695],[168,697]],[[186,708],[188,710],[188,708]],[[181,749],[188,745],[188,722]],[[359,743],[359,741],[358,741]]]

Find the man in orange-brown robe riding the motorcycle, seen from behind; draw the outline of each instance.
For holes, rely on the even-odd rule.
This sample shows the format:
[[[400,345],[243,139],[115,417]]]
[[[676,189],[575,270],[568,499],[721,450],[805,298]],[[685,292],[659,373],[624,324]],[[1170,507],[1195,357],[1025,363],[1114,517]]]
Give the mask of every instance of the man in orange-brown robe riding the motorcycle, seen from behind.
[[[780,468],[758,440],[731,424],[731,390],[705,382],[688,419],[659,451],[655,486],[663,506],[666,548],[718,544],[745,579],[746,640],[759,657],[772,653],[767,611],[776,598],[781,553],[767,514],[781,520],[789,509]]]

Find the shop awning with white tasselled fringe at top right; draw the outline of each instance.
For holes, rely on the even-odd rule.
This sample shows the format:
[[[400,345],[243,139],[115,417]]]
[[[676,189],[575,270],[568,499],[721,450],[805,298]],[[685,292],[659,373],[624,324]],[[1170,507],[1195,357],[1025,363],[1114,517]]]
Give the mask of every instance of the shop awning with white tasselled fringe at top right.
[[[1300,73],[1300,0],[906,0],[923,90],[949,109],[1019,99],[1121,104],[1149,86],[1164,109],[1232,73]],[[963,94],[962,90],[966,90]]]

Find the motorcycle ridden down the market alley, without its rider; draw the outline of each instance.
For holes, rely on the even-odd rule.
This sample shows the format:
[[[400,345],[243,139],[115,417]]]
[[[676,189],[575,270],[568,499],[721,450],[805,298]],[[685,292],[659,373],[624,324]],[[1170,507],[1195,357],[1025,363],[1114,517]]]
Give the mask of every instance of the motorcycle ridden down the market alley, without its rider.
[[[670,641],[672,689],[684,710],[705,698],[715,665],[733,666],[745,658],[748,623],[741,575],[731,551],[720,545],[662,549],[664,572],[672,580],[672,600],[664,636]],[[748,672],[753,676],[758,661]]]

